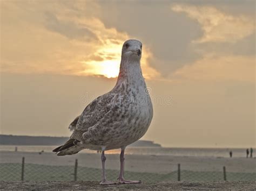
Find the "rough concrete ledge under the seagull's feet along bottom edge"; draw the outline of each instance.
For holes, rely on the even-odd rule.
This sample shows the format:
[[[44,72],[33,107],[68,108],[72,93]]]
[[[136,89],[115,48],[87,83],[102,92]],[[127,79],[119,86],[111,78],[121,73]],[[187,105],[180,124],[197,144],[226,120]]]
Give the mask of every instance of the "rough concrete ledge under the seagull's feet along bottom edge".
[[[159,182],[102,186],[96,181],[0,181],[1,190],[254,190],[256,181]]]

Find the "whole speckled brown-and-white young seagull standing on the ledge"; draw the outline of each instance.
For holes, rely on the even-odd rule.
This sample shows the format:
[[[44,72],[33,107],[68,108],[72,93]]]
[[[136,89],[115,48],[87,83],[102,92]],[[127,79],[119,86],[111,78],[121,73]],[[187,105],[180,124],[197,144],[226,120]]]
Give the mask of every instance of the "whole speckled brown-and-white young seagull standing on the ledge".
[[[69,125],[72,135],[62,146],[53,150],[57,155],[71,155],[89,148],[102,151],[102,181],[100,185],[140,183],[124,179],[124,152],[127,145],[145,135],[153,117],[153,107],[147,90],[140,59],[142,43],[126,40],[122,48],[116,86],[97,97]],[[105,176],[105,151],[121,148],[120,173],[117,182]]]

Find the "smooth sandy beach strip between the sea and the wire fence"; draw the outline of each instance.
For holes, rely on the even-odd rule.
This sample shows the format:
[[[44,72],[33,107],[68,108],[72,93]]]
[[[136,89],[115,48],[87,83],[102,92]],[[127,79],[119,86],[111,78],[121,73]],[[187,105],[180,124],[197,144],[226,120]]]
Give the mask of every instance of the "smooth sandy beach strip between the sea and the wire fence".
[[[78,159],[78,166],[101,168],[100,154],[78,153],[58,157],[55,153],[44,152],[0,152],[0,163],[20,163],[25,157],[26,164],[41,165],[74,165]],[[106,155],[106,168],[119,170],[119,155]],[[187,171],[223,171],[255,173],[255,158],[210,158],[210,157],[174,157],[155,155],[125,155],[125,169],[132,172],[170,173],[177,171],[177,165]]]

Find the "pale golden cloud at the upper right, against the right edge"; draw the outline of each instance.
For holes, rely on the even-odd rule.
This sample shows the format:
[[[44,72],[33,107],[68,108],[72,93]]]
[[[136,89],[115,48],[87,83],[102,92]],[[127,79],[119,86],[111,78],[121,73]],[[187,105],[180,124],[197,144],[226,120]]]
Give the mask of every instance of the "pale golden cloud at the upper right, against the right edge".
[[[191,41],[201,58],[187,62],[169,77],[179,81],[254,83],[255,25],[252,15],[238,12],[232,15],[227,13],[226,6],[222,6],[225,9],[215,8],[214,2],[196,4],[174,4],[171,9],[186,13],[201,25],[202,36]]]

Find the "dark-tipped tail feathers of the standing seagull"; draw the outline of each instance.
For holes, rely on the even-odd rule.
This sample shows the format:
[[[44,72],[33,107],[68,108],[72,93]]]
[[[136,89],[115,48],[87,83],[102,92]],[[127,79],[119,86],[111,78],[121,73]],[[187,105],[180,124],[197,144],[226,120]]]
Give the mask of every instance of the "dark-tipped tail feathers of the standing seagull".
[[[76,154],[83,150],[83,147],[77,143],[79,143],[79,140],[69,139],[64,145],[55,148],[52,152],[56,152],[58,156]]]

